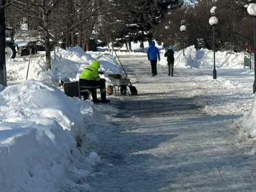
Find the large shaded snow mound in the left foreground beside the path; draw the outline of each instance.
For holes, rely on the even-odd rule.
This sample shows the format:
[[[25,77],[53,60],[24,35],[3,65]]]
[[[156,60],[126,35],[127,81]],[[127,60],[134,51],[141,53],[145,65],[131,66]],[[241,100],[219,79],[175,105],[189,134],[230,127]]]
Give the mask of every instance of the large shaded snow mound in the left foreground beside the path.
[[[59,191],[63,185],[86,190],[66,178],[78,159],[80,165],[99,160],[95,153],[85,158],[88,141],[78,105],[37,80],[5,88],[0,102],[0,191]],[[87,105],[91,110],[91,102]]]

